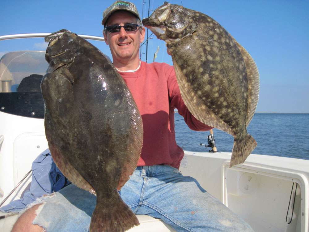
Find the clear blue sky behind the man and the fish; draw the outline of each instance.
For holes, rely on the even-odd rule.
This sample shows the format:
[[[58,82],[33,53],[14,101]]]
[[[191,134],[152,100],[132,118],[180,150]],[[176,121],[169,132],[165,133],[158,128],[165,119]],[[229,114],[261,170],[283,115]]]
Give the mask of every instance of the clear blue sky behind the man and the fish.
[[[87,3],[86,3],[87,2]],[[141,17],[149,2],[132,1]],[[151,10],[163,0],[150,0]],[[182,0],[169,1],[201,11],[217,20],[251,54],[260,73],[260,98],[256,112],[309,113],[309,1],[308,0]],[[102,13],[113,1],[2,1],[0,35],[56,32],[102,36]],[[164,41],[148,40],[148,62],[159,46],[155,61],[172,65]],[[111,57],[104,42],[94,42]],[[0,56],[13,50],[44,50],[43,39],[1,41]],[[146,45],[142,47],[146,60]]]

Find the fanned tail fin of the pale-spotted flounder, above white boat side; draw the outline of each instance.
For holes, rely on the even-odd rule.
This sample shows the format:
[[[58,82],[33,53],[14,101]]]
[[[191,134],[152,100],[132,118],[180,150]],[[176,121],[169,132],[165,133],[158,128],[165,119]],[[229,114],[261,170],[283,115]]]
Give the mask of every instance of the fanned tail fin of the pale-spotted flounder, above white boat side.
[[[253,151],[253,149],[256,148],[256,145],[257,143],[255,139],[248,133],[242,140],[234,137],[234,146],[232,150],[230,167],[236,164],[242,164]]]

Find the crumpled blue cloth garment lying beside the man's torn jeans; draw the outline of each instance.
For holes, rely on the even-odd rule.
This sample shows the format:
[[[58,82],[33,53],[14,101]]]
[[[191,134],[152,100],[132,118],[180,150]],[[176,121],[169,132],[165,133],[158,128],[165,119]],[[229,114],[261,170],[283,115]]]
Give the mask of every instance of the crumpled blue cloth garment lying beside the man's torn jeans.
[[[19,200],[11,201],[0,208],[1,212],[19,212],[26,206],[41,197],[69,185],[68,181],[57,168],[49,149],[42,152],[32,163],[32,182],[30,190],[26,190]]]

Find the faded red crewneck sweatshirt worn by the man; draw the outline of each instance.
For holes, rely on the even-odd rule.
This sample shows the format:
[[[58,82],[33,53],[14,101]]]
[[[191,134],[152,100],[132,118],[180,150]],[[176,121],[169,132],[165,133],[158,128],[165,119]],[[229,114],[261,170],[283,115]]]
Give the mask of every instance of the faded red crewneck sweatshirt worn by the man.
[[[144,139],[138,166],[165,164],[179,168],[184,151],[176,144],[174,109],[195,131],[212,129],[199,122],[180,96],[174,67],[166,63],[141,62],[135,72],[119,72],[142,115]]]

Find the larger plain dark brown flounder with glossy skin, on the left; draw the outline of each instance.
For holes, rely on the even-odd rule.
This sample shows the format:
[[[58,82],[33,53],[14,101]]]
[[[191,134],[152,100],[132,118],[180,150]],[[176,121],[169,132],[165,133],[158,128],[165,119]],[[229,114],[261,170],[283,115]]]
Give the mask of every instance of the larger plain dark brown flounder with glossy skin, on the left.
[[[142,118],[122,77],[88,41],[61,30],[45,37],[41,82],[45,134],[58,168],[97,196],[90,231],[125,231],[138,219],[121,200],[142,149]]]

